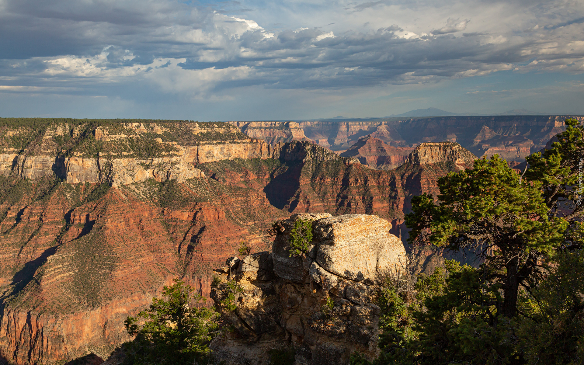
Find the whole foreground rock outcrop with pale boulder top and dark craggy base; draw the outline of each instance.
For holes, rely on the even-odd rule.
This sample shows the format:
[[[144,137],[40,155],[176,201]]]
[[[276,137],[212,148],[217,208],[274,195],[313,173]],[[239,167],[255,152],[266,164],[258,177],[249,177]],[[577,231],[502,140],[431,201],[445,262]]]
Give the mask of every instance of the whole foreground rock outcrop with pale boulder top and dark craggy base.
[[[313,239],[305,255],[291,256],[288,240],[299,219],[312,221]],[[406,265],[391,224],[377,215],[328,213],[281,223],[272,253],[230,259],[230,267],[216,270],[224,282],[211,293],[216,302],[227,296],[227,280],[242,291],[237,309],[224,313],[234,331],[211,343],[215,356],[225,364],[269,364],[270,350],[291,346],[298,365],[346,364],[354,351],[376,357],[380,308],[371,284]]]

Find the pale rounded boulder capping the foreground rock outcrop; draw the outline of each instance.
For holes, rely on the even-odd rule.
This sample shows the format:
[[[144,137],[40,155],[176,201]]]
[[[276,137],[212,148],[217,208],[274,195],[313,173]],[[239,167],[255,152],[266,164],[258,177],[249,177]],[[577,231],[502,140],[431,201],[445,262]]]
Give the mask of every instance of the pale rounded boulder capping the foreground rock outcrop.
[[[299,219],[313,221],[312,242],[304,256],[290,256],[291,229]],[[272,260],[274,273],[286,280],[314,281],[331,290],[340,279],[370,283],[381,272],[402,272],[407,264],[404,244],[389,233],[391,223],[377,215],[301,213],[281,225]]]

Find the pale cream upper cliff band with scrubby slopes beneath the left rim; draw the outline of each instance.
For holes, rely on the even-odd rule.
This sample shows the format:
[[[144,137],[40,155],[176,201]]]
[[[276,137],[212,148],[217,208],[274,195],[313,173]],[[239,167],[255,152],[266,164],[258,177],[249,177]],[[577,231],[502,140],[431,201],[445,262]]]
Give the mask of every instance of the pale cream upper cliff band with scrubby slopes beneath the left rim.
[[[76,128],[82,127],[84,134],[75,137]],[[68,183],[109,182],[114,186],[148,179],[184,182],[204,177],[195,164],[279,157],[277,148],[250,139],[226,123],[119,123],[95,129],[63,123],[49,124],[37,133],[36,140],[22,151],[11,141],[27,138],[30,130],[19,128],[0,135],[5,146],[0,174],[27,179],[57,175]],[[61,150],[63,147],[68,149]]]

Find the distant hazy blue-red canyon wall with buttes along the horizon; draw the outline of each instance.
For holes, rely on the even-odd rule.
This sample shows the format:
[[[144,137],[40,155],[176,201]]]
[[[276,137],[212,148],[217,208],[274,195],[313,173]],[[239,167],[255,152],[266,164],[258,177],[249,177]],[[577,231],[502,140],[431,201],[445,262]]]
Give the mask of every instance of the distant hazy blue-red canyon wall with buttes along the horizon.
[[[367,161],[371,168],[391,170],[425,142],[457,142],[477,157],[499,154],[515,166],[560,133],[566,117],[442,116],[228,123],[267,142],[311,140],[345,157]],[[570,117],[584,120],[582,116]],[[363,141],[367,135],[370,138]]]

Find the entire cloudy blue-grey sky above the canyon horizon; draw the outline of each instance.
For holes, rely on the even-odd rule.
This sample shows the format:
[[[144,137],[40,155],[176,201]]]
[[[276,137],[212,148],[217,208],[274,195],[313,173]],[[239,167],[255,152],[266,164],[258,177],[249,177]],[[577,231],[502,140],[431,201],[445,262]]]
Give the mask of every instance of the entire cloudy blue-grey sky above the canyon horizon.
[[[0,0],[0,117],[584,114],[584,1]]]

